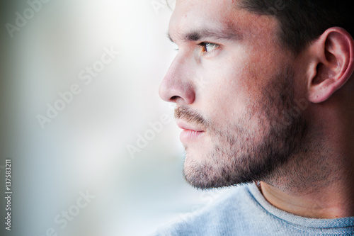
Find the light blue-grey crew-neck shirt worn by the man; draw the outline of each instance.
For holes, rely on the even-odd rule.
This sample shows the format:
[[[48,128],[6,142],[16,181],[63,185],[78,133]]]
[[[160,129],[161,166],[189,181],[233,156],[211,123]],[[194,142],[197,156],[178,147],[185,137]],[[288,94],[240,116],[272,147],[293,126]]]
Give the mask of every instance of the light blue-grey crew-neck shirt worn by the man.
[[[193,217],[161,228],[153,235],[354,235],[354,217],[303,218],[275,208],[256,184],[233,187]]]

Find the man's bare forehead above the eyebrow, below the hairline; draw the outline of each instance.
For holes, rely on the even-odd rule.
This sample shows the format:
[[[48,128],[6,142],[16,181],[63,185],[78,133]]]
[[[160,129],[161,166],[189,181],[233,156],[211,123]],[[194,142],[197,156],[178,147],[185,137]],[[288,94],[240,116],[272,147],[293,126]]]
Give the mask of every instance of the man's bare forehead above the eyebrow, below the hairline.
[[[169,24],[170,38],[173,41],[198,40],[198,32],[236,39],[267,31],[275,33],[278,22],[273,16],[261,16],[240,9],[239,1],[177,0]]]

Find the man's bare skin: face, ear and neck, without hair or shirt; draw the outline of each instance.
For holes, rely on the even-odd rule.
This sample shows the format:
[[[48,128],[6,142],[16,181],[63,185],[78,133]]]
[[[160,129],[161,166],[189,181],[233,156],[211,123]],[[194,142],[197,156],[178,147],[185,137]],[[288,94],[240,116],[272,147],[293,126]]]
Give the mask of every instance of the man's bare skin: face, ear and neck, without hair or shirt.
[[[178,0],[171,16],[178,55],[159,92],[177,104],[185,179],[200,189],[261,181],[282,210],[353,216],[353,38],[330,28],[295,55],[275,17],[238,4]]]

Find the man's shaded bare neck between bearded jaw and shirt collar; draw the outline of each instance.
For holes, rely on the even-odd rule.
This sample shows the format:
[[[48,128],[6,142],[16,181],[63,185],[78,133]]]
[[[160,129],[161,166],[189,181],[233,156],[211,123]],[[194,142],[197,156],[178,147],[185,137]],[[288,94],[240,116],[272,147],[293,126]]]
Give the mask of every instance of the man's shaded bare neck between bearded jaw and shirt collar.
[[[354,216],[353,141],[338,145],[338,140],[331,147],[322,139],[322,145],[314,145],[318,149],[297,154],[271,178],[261,181],[265,199],[281,210],[307,218]]]

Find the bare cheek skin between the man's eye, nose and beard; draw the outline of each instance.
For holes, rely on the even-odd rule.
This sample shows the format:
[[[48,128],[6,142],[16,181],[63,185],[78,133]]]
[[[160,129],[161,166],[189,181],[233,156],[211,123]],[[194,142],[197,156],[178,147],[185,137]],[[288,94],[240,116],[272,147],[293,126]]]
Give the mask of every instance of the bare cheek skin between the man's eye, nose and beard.
[[[205,64],[202,72],[206,84],[197,97],[215,128],[241,120],[247,128],[261,128],[264,89],[285,69],[288,59],[276,48],[251,45],[235,47],[217,63]]]

